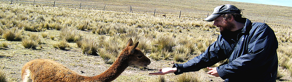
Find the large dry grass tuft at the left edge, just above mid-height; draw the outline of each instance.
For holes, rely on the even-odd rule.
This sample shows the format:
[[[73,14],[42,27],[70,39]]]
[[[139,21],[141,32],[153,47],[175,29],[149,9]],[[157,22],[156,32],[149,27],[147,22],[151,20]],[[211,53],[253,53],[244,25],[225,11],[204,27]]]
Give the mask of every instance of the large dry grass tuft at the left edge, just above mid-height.
[[[18,28],[6,29],[5,32],[3,32],[2,37],[8,41],[20,41],[23,38],[23,31],[24,29]]]

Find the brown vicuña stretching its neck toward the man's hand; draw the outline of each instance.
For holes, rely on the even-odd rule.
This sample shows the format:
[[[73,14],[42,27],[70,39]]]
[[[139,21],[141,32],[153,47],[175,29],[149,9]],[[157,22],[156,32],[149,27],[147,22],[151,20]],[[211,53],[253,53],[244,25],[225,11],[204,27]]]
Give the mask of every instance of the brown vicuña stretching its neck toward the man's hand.
[[[141,50],[137,48],[138,43],[132,45],[129,39],[127,46],[122,50],[119,57],[105,72],[93,76],[81,76],[78,73],[64,67],[60,63],[47,59],[35,59],[26,63],[21,72],[23,82],[110,82],[115,80],[127,67],[147,67],[150,64]]]

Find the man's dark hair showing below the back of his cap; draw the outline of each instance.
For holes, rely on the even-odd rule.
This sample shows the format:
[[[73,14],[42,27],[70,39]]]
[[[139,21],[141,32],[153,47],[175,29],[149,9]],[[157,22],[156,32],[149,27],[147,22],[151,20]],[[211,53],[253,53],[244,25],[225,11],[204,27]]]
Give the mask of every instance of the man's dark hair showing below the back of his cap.
[[[240,12],[242,12],[242,10],[244,9],[239,9]],[[225,19],[229,19],[231,18],[231,16],[233,16],[234,20],[237,22],[245,22],[245,19],[242,19],[242,14],[240,13],[228,13],[228,14],[221,14],[219,15],[220,17],[223,17]]]

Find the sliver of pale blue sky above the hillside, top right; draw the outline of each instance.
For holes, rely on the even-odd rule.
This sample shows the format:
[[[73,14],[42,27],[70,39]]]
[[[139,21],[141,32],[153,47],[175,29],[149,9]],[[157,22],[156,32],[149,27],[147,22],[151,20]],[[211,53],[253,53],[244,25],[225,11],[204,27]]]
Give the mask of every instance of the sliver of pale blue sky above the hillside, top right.
[[[278,6],[288,6],[292,7],[292,0],[224,0],[233,2],[248,2],[248,3],[258,3],[266,5],[278,5]]]

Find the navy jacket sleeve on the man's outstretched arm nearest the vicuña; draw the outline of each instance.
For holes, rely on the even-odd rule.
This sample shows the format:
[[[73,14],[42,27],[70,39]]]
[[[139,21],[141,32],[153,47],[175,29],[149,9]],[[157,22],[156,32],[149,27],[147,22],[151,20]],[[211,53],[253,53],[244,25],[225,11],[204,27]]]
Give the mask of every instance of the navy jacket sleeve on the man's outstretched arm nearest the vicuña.
[[[198,71],[202,68],[210,67],[219,61],[225,60],[228,57],[225,54],[231,53],[231,50],[230,45],[222,39],[221,36],[218,36],[217,41],[212,43],[201,55],[194,57],[186,63],[174,64],[173,68],[177,67],[177,72],[174,74],[178,75],[181,73]]]

